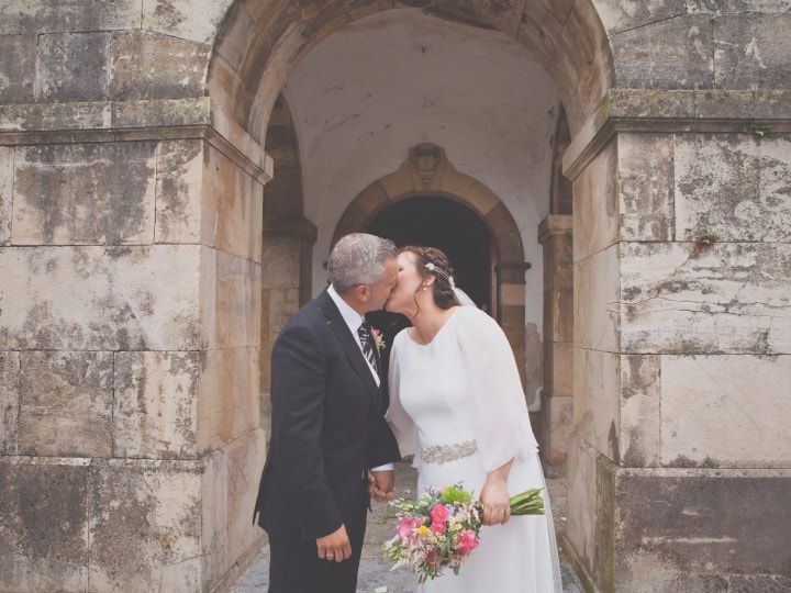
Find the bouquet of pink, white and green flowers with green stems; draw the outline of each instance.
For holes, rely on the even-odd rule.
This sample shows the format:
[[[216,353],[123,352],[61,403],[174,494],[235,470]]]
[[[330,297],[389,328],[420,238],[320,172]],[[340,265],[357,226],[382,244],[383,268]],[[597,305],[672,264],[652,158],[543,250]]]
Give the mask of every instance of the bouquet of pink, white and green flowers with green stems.
[[[511,515],[543,515],[542,489],[511,497]],[[385,542],[385,558],[396,562],[391,570],[410,567],[421,583],[439,577],[445,569],[458,574],[461,563],[478,547],[483,523],[483,506],[472,494],[455,484],[428,489],[413,501],[399,499],[398,534]]]

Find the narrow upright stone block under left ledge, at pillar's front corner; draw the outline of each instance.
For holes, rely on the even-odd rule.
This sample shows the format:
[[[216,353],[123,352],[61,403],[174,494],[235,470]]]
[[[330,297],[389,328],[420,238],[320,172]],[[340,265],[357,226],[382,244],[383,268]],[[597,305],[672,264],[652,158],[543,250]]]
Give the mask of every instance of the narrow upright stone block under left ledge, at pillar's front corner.
[[[156,243],[200,243],[202,141],[171,141],[157,146]]]

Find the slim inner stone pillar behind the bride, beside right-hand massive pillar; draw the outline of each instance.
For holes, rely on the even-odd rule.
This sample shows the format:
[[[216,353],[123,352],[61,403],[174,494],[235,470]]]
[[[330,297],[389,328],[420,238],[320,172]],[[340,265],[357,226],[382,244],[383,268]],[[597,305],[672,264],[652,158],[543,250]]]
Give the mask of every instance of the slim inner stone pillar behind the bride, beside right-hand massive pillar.
[[[538,443],[545,472],[566,470],[573,414],[573,283],[571,215],[549,214],[538,225],[544,246],[544,388]]]

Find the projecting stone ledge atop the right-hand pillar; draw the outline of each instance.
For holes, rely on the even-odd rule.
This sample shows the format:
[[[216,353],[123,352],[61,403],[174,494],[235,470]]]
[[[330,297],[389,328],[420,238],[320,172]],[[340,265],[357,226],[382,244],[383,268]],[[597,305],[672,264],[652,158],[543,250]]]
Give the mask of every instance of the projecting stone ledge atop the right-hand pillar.
[[[566,149],[573,180],[619,132],[754,133],[756,125],[791,132],[790,90],[611,89]]]

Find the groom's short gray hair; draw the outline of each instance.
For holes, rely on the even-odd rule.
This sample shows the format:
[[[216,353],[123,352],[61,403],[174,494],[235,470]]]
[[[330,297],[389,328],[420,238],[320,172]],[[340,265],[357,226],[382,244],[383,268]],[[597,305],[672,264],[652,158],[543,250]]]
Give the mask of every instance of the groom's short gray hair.
[[[367,233],[352,233],[333,247],[327,261],[330,282],[338,292],[357,284],[376,284],[385,277],[385,264],[398,255],[396,244]]]

